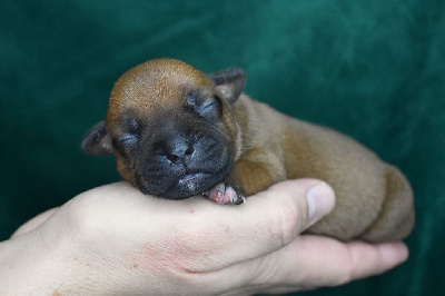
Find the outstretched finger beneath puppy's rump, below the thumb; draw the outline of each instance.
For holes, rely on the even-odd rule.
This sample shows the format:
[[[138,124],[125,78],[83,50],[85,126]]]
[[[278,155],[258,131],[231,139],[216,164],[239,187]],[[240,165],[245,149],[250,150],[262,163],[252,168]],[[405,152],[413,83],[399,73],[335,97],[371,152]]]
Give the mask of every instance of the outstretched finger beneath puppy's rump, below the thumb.
[[[408,249],[403,243],[370,245],[340,243],[322,236],[300,236],[283,249],[245,263],[258,270],[249,283],[275,288],[268,293],[338,286],[382,274],[405,262]]]

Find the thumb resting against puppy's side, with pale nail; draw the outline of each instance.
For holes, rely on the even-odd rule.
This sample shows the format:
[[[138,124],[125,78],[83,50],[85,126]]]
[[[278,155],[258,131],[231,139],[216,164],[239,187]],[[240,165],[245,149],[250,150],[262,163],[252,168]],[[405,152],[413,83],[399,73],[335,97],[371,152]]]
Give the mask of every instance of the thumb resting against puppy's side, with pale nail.
[[[286,180],[248,197],[241,206],[215,207],[210,203],[199,203],[200,208],[196,207],[194,211],[199,224],[185,225],[185,219],[181,219],[181,227],[201,228],[187,231],[187,237],[212,250],[207,259],[211,257],[214,262],[224,262],[228,266],[264,256],[289,244],[327,215],[334,204],[334,191],[326,182],[316,179]],[[201,233],[206,233],[207,239],[202,235],[197,238],[190,235]],[[201,268],[199,272],[215,270],[215,266]]]

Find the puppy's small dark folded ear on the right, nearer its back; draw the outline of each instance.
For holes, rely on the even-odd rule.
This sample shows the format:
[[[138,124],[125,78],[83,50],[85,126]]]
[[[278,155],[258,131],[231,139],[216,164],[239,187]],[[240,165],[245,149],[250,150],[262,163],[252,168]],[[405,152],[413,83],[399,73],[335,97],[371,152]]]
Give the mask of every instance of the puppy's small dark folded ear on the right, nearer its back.
[[[231,68],[211,73],[210,78],[226,99],[234,103],[241,95],[246,81],[246,71],[241,68]]]

